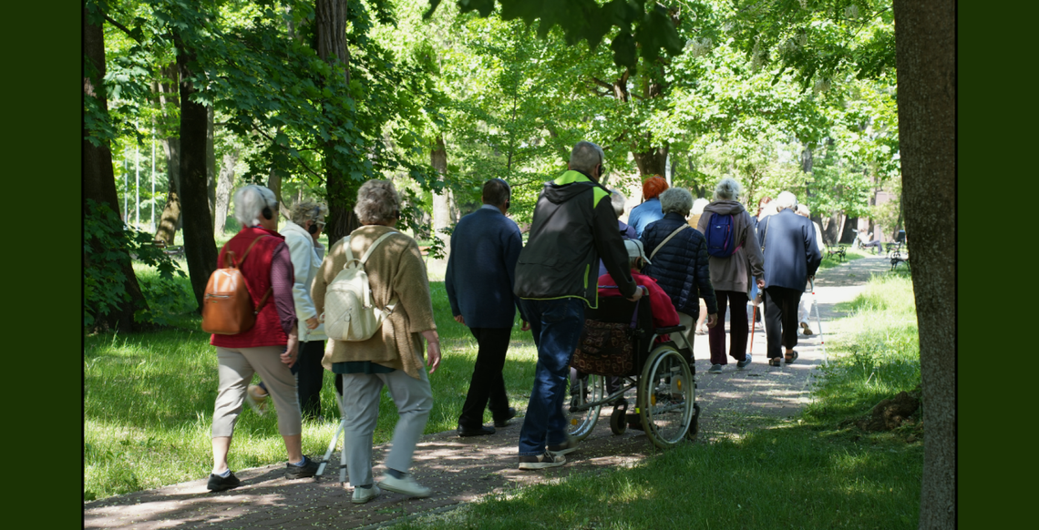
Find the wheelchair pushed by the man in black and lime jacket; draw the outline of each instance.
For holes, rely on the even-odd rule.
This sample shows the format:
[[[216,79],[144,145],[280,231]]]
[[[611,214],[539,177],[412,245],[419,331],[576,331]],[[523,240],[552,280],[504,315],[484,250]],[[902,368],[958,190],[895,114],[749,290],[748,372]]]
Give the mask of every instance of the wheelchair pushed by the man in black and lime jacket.
[[[577,376],[571,362],[568,411],[566,405],[563,407],[564,413],[568,412],[567,430],[577,440],[591,434],[603,406],[613,406],[610,430],[614,435],[624,434],[629,426],[640,428],[660,448],[692,440],[699,430],[693,348],[681,333],[686,327],[654,328],[648,300],[642,302],[601,297],[597,309],[586,309],[586,320],[629,325],[634,362],[623,373],[588,371],[587,376]],[[667,334],[675,334],[684,347],[674,340],[656,343],[659,336]],[[582,332],[581,343],[585,337],[586,331]],[[617,376],[619,382],[618,388],[608,391],[610,376]],[[636,394],[634,411],[629,410],[624,397],[632,391]]]

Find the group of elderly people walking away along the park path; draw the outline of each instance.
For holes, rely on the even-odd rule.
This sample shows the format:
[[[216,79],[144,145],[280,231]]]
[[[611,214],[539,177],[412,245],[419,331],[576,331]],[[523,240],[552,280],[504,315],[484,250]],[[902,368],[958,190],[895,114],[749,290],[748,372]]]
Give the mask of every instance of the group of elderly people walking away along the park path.
[[[495,427],[507,425],[517,415],[509,406],[502,374],[516,312],[521,331],[530,331],[537,347],[520,431],[520,469],[561,466],[565,454],[578,449],[567,435],[566,380],[585,308],[596,307],[600,296],[630,301],[649,296],[655,316],[661,323],[676,318],[686,326],[688,339],[696,329],[702,300],[711,371],[717,372],[727,363],[726,311],[728,355],[739,368],[751,362],[746,352],[746,307],[756,290],[764,296],[770,364],[779,365],[781,357],[788,363],[797,359],[797,305],[822,258],[816,228],[792,210],[797,207],[793,194],[780,194],[751,217],[739,202],[739,184],[724,178],[694,227],[689,219],[690,192],[651,177],[643,185],[645,201],[633,208],[625,224],[619,220],[624,197],[600,184],[603,174],[603,149],[579,142],[567,170],[540,192],[526,245],[520,227],[506,216],[512,194],[501,178],[484,184],[483,205],[463,217],[451,238],[445,287],[452,316],[470,329],[478,346],[458,416],[458,436],[492,435]],[[354,486],[352,501],[368,502],[381,490],[430,495],[408,471],[432,409],[427,373],[439,365],[441,347],[422,253],[414,239],[396,230],[401,199],[393,184],[369,180],[361,187],[354,213],[362,226],[332,245],[327,255],[318,241],[326,213],[323,205],[307,201],[294,205],[291,222],[278,231],[278,202],[270,190],[246,186],[235,193],[234,201],[235,217],[243,228],[221,250],[218,267],[241,256],[236,262],[258,307],[257,324],[239,335],[213,335],[211,341],[217,350],[219,391],[209,490],[240,485],[227,463],[234,425],[246,400],[267,396],[285,439],[286,476],[314,476],[317,464],[300,450],[301,418],[320,416],[322,370],[329,370],[337,374],[336,392],[345,415],[344,451]],[[722,218],[738,247],[726,257],[717,257],[709,252],[704,234]],[[368,340],[326,344],[322,324],[326,289],[356,256],[368,275],[372,304],[387,308],[389,316]],[[269,303],[264,303],[265,292]],[[250,385],[254,373],[263,380],[263,388]],[[376,483],[372,434],[383,386],[400,419],[387,472]],[[487,410],[494,426],[484,424]]]

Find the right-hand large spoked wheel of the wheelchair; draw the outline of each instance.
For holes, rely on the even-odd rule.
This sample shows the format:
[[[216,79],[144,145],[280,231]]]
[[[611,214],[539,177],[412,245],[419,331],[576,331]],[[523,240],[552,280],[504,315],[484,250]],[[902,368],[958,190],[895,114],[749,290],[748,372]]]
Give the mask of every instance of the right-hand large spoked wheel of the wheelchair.
[[[693,372],[673,346],[649,354],[639,378],[638,403],[642,428],[654,445],[671,447],[686,438],[693,421]]]

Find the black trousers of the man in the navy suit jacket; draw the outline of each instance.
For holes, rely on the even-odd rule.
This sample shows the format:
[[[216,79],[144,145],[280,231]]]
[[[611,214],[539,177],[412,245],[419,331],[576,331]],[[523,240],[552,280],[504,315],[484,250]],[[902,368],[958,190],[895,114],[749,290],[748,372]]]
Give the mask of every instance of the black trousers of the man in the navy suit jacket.
[[[477,428],[483,424],[484,409],[490,409],[495,419],[504,419],[509,414],[509,398],[505,393],[502,368],[505,367],[505,354],[509,350],[512,328],[470,328],[469,331],[476,337],[479,351],[458,425]]]

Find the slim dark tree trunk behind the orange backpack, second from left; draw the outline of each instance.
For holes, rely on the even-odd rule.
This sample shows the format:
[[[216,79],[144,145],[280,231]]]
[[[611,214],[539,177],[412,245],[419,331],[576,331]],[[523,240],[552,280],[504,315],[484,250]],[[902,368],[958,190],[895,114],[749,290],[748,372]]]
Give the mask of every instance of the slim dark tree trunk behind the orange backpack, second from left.
[[[216,241],[213,239],[213,218],[209,215],[209,193],[206,174],[206,107],[191,100],[195,93],[188,66],[195,60],[194,51],[174,34],[177,46],[177,66],[181,78],[181,202],[184,206],[184,251],[188,275],[198,310],[209,276],[216,270]]]

